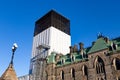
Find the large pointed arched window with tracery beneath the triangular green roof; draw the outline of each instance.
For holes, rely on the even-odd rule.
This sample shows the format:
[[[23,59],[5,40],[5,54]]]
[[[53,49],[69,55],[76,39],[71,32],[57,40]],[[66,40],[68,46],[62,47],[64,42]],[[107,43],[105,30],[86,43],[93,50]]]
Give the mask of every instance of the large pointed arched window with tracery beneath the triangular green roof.
[[[95,60],[95,68],[97,74],[105,73],[104,62],[99,56]]]

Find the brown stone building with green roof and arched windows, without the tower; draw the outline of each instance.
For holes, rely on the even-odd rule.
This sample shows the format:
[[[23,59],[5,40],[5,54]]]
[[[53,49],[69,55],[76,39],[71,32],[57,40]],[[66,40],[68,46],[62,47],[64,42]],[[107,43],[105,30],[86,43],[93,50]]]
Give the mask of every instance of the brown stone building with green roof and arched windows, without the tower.
[[[66,55],[52,52],[43,80],[120,80],[120,37],[99,35],[92,46],[79,47],[71,46]]]

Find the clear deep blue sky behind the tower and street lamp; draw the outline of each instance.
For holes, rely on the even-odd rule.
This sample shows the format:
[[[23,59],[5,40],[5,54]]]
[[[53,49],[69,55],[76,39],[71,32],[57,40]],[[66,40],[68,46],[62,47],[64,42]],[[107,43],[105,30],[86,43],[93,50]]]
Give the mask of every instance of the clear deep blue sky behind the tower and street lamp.
[[[14,42],[16,73],[28,74],[34,23],[51,9],[70,19],[72,45],[90,46],[98,32],[120,36],[120,0],[0,0],[0,75],[8,67]]]

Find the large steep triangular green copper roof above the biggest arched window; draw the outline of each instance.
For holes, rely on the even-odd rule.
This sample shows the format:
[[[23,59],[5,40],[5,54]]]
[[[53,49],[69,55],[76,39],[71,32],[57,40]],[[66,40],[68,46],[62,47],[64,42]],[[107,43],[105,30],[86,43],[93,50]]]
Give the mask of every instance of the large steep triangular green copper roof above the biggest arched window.
[[[99,50],[103,50],[108,48],[107,43],[105,42],[105,40],[103,38],[99,38],[95,44],[92,46],[92,48],[90,49],[89,53],[93,53]]]

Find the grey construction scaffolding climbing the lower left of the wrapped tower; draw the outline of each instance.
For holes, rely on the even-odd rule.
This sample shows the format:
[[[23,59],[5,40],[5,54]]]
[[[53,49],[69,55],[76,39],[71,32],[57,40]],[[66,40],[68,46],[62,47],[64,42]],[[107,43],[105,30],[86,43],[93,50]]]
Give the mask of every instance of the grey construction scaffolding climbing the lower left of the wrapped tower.
[[[29,80],[43,80],[45,74],[45,66],[46,66],[46,56],[48,54],[48,50],[50,49],[47,45],[39,45],[37,47],[38,54],[31,59],[31,64],[33,66],[32,76]]]

